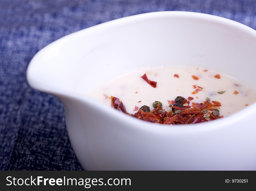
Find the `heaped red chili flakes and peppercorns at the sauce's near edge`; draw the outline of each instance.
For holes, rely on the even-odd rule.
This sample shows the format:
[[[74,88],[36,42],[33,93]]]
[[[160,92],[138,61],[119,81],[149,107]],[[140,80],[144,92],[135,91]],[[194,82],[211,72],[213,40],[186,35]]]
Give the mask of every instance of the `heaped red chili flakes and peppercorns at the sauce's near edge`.
[[[188,98],[189,99],[189,98]],[[193,99],[190,97],[190,99]],[[171,100],[169,107],[170,110],[162,108],[160,101],[153,103],[154,109],[150,111],[149,106],[141,106],[137,113],[134,115],[128,113],[125,109],[122,101],[119,101],[117,97],[111,96],[111,106],[117,110],[120,110],[130,116],[136,117],[143,121],[161,124],[195,124],[200,122],[206,122],[214,119],[221,118],[219,116],[219,108],[221,103],[218,101],[210,102],[209,98],[204,103],[192,103],[192,107],[189,105],[190,101],[184,97],[178,96],[175,101]],[[218,108],[218,109],[217,109]],[[134,111],[138,109],[135,106]]]

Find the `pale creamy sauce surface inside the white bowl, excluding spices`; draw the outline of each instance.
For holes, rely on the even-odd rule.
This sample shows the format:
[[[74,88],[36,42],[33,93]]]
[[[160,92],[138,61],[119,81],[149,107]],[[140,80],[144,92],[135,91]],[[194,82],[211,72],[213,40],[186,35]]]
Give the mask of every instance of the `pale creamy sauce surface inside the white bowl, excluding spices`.
[[[157,82],[157,87],[153,88],[144,79],[143,74],[151,81]],[[174,77],[178,74],[179,78]],[[220,78],[216,78],[217,74]],[[192,78],[198,77],[198,80]],[[202,87],[202,91],[192,94],[197,88]],[[223,94],[218,92],[225,91]],[[237,91],[238,94],[234,94]],[[256,91],[238,82],[236,79],[202,68],[184,67],[158,67],[151,69],[137,69],[127,72],[89,93],[90,97],[111,106],[111,99],[114,96],[122,100],[128,113],[134,114],[135,106],[140,108],[143,105],[153,110],[153,102],[161,101],[163,109],[170,110],[167,100],[175,100],[177,96],[184,98],[193,97],[191,103],[203,103],[208,97],[210,101],[221,102],[220,115],[228,116],[256,101]],[[141,102],[139,102],[141,101]],[[139,102],[139,103],[138,103]],[[191,104],[190,104],[191,105]]]

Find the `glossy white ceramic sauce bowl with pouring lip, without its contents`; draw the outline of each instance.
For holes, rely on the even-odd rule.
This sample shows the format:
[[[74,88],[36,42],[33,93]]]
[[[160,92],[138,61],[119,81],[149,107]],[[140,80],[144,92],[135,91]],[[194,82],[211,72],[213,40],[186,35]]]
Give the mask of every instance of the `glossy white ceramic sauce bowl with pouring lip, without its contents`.
[[[256,104],[212,122],[166,126],[86,96],[136,67],[215,69],[256,89],[256,31],[229,19],[156,12],[67,35],[31,60],[31,87],[57,96],[77,158],[90,170],[256,170]],[[235,103],[234,103],[235,104]]]

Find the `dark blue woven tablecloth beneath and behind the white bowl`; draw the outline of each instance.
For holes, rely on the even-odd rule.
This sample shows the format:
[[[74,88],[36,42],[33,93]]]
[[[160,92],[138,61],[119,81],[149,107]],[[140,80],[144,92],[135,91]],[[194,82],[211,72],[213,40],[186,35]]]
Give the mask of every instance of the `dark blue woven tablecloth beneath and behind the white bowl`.
[[[0,170],[82,170],[62,103],[29,87],[31,58],[64,35],[109,20],[182,10],[256,29],[255,0],[0,0]]]

